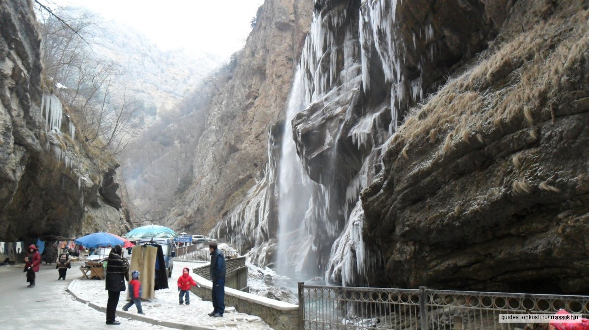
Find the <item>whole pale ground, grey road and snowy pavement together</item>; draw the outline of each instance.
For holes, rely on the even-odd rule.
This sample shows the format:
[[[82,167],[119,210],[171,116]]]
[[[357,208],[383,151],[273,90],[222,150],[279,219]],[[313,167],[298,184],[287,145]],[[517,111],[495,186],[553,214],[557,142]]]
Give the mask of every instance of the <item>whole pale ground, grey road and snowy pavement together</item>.
[[[107,291],[104,281],[80,280],[78,267],[82,262],[72,263],[67,280],[58,281],[55,265],[41,265],[37,273],[37,286],[27,288],[22,265],[0,267],[0,309],[2,310],[2,329],[168,329],[132,318],[122,317],[125,304],[124,293],[117,308],[117,321],[121,325],[105,324],[105,314],[77,301],[66,289],[70,289],[82,299],[105,307]],[[207,315],[213,308],[210,301],[203,301],[190,295],[190,306],[178,305],[176,280],[182,268],[192,268],[194,263],[174,261],[172,278],[168,281],[170,289],[155,291],[153,302],[142,302],[145,316],[160,321],[176,322],[193,326],[206,326],[217,329],[272,329],[258,316],[235,312],[228,307],[224,317],[211,318]],[[129,312],[137,312],[133,306]],[[61,321],[64,320],[64,321]]]

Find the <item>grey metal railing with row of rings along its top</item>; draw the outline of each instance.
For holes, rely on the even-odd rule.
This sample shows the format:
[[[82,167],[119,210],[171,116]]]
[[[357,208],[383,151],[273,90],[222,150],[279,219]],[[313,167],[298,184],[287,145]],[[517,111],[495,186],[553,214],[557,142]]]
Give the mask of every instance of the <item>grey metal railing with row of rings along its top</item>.
[[[499,314],[589,316],[589,296],[350,288],[299,283],[301,329],[513,330]]]

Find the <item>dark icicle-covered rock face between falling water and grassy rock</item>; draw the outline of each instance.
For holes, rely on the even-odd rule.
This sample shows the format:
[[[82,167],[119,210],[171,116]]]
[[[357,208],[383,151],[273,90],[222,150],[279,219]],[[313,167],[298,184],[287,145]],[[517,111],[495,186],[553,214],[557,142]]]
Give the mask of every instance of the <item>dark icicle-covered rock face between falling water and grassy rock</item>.
[[[408,109],[443,84],[451,66],[487,46],[496,26],[484,8],[454,1],[316,2],[300,59],[307,107],[291,123],[301,166],[316,186],[309,203],[299,203],[309,205],[305,217],[292,221],[312,235],[310,266],[327,271],[327,280],[366,282],[365,268],[378,264],[376,251],[366,264],[361,260],[359,191],[380,170],[380,147]],[[283,259],[293,266],[301,258],[291,257]]]

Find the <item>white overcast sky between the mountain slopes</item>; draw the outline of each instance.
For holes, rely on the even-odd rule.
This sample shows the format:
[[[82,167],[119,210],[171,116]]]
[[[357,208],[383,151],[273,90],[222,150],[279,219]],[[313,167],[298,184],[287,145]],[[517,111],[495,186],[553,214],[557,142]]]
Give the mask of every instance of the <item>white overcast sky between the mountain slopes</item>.
[[[229,57],[241,49],[264,0],[39,0],[85,7],[126,23],[164,50],[185,48]]]

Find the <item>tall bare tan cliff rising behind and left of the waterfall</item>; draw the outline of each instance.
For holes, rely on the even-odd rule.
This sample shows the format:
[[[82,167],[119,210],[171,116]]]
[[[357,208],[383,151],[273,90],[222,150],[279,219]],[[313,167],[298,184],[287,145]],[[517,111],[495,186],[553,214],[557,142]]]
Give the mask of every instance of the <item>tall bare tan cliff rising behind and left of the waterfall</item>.
[[[230,218],[230,210],[263,177],[268,132],[284,116],[311,8],[310,0],[264,2],[233,78],[213,99],[195,151],[193,182],[168,225],[191,233],[210,231]],[[222,235],[227,237],[227,231]]]

